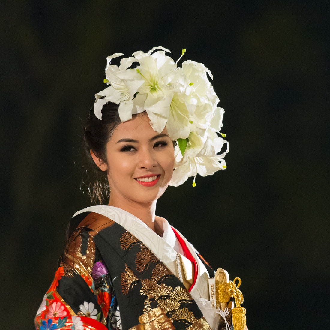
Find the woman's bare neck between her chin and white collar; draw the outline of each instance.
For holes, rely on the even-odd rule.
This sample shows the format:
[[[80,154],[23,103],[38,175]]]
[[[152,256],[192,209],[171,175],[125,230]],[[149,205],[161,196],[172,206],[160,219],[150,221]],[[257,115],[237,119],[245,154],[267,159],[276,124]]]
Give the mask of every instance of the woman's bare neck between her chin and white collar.
[[[109,200],[109,206],[114,206],[135,215],[143,221],[150,229],[155,231],[155,212],[157,200],[149,203],[138,203],[132,201],[119,201],[116,198]]]

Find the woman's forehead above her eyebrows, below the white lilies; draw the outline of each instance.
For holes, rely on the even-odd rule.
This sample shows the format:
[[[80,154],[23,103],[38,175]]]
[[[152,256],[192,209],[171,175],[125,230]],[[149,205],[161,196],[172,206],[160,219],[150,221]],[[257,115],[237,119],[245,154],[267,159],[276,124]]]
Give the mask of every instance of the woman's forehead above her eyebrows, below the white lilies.
[[[114,130],[110,141],[115,143],[120,139],[149,140],[158,133],[153,130],[147,114],[138,115],[130,120],[120,123]],[[167,134],[166,127],[162,133]]]

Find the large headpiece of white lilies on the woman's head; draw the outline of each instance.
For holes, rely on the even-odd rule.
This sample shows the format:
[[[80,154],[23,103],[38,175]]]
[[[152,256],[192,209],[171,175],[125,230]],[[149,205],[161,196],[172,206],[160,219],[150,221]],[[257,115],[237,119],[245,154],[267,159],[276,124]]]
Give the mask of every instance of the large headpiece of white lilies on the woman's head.
[[[161,50],[154,52],[157,49]],[[193,176],[195,186],[197,174],[205,177],[226,168],[223,157],[229,144],[220,133],[224,110],[216,107],[219,99],[207,77],[208,73],[213,79],[210,70],[191,60],[177,67],[185,49],[177,62],[165,51],[170,52],[163,47],[137,51],[122,58],[119,67],[110,63],[123,54],[107,57],[104,82],[110,86],[95,94],[94,113],[102,119],[102,107],[109,101],[119,104],[122,122],[146,111],[156,132],[166,126],[170,138],[178,142],[170,185]],[[138,62],[137,67],[129,69],[133,62]],[[227,149],[219,154],[224,143]]]

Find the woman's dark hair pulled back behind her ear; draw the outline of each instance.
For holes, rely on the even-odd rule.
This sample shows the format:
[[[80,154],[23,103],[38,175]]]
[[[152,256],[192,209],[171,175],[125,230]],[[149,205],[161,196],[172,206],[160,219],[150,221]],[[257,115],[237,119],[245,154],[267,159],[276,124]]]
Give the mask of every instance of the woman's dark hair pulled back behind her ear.
[[[87,180],[83,182],[87,186],[87,193],[92,203],[98,204],[109,199],[110,187],[107,173],[101,171],[95,164],[90,149],[103,162],[106,162],[106,146],[114,130],[121,123],[118,114],[118,105],[108,102],[102,108],[102,120],[94,114],[94,107],[89,110],[89,115],[85,126],[83,127],[83,147],[85,157],[88,161]]]

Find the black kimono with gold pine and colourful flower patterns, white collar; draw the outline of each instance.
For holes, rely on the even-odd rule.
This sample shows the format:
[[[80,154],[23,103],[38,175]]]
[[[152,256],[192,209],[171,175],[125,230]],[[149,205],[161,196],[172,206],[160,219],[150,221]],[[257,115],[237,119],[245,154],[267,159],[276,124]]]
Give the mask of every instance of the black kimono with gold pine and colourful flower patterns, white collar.
[[[163,224],[162,238],[116,207],[77,212],[36,329],[232,328],[231,314],[225,324],[210,308],[208,279],[215,272],[179,231]]]

